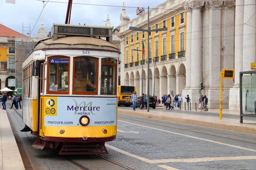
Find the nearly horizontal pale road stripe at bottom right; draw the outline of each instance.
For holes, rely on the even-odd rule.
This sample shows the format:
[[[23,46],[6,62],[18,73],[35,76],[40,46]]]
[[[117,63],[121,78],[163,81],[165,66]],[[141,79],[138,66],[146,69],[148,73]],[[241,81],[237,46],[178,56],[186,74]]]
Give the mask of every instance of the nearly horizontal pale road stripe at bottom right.
[[[155,161],[155,163],[166,163],[166,162],[227,161],[227,160],[245,160],[245,159],[256,159],[256,156],[226,156],[226,157],[207,157],[207,158],[189,158],[189,159],[156,159],[151,161]]]

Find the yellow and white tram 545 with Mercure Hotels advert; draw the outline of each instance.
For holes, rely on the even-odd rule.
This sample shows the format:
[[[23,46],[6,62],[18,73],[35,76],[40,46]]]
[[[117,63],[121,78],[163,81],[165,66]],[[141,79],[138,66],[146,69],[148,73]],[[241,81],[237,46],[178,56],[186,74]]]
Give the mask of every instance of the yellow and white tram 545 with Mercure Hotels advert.
[[[106,154],[116,138],[120,51],[112,28],[54,24],[23,60],[22,131],[35,149]]]

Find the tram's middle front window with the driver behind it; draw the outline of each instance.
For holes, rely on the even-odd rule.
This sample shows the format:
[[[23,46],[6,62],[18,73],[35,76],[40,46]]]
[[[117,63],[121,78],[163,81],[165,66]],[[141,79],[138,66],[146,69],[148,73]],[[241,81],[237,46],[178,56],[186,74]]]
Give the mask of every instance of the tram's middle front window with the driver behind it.
[[[89,56],[74,59],[74,92],[96,92],[97,59]]]

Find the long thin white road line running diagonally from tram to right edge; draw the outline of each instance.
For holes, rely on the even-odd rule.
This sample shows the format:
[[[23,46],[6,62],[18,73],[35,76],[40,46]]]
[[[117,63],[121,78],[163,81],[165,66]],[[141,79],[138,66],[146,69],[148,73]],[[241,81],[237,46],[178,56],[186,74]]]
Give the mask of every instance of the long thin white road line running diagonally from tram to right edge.
[[[119,122],[125,122],[125,121],[122,121],[122,120],[118,120],[118,121]],[[256,152],[256,150],[254,150],[254,149],[249,149],[249,148],[246,148],[246,147],[240,147],[240,146],[236,146],[236,145],[233,145],[233,144],[226,144],[226,143],[222,143],[222,142],[212,141],[212,140],[209,140],[209,139],[198,138],[198,137],[195,137],[195,136],[189,136],[189,135],[185,135],[185,134],[182,134],[182,133],[176,133],[176,132],[172,132],[172,131],[168,131],[168,130],[157,129],[157,128],[154,128],[154,127],[138,125],[138,124],[131,123],[131,122],[125,122],[125,123],[131,124],[131,125],[137,125],[137,126],[141,126],[141,127],[147,127],[147,128],[154,129],[154,130],[160,130],[160,131],[163,131],[163,132],[172,133],[172,134],[180,135],[180,136],[186,136],[186,137],[189,137],[189,138],[199,139],[199,140],[212,142],[212,143],[216,143],[216,144],[222,144],[222,145],[225,145],[225,146],[236,147],[238,149],[243,149],[243,150],[249,150],[249,151],[252,151],[252,152]]]

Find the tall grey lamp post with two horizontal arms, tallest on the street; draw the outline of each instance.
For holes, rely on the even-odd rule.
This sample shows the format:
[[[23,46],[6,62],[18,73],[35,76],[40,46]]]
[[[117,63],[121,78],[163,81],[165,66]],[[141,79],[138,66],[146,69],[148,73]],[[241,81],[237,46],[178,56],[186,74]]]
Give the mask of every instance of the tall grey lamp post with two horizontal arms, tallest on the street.
[[[149,6],[148,6],[148,29],[146,30],[146,29],[137,28],[137,27],[129,27],[129,30],[148,32],[148,49],[149,49],[149,32],[153,32],[153,31],[167,31],[168,29],[167,28],[159,28],[159,29],[152,29],[152,30],[149,29]],[[148,59],[149,59],[149,53],[148,53]],[[148,96],[148,99],[147,99],[147,111],[149,112],[149,62],[147,63],[147,66],[148,66],[148,71],[147,71],[147,74],[148,74],[148,80],[147,80],[147,82],[148,82],[148,89],[147,89],[147,96]]]

